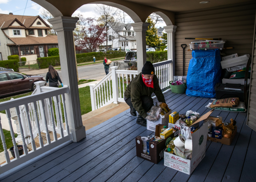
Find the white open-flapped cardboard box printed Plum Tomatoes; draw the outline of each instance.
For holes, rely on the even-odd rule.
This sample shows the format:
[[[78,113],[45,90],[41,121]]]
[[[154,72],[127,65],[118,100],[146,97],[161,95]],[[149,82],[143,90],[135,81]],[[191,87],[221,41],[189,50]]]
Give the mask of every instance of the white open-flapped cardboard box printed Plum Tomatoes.
[[[214,110],[214,109],[213,109]],[[199,123],[202,120],[207,119],[212,111],[207,112],[205,115],[201,116],[196,120],[191,126]],[[183,159],[177,155],[170,154],[164,151],[164,165],[173,168],[177,171],[181,171],[185,174],[191,174],[196,166],[201,162],[205,156],[206,141],[208,136],[208,122],[204,122],[201,128],[197,129],[195,133],[192,134],[192,158]]]

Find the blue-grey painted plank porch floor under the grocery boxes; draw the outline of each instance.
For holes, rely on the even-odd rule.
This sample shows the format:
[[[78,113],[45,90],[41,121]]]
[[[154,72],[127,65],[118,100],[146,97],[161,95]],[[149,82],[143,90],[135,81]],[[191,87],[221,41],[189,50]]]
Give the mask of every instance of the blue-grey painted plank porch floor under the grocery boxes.
[[[211,99],[188,97],[171,91],[164,94],[172,111],[208,112]],[[156,99],[154,100],[156,101]],[[136,156],[135,137],[153,132],[136,124],[126,110],[86,131],[87,137],[0,181],[256,181],[256,133],[246,125],[246,113],[213,111],[228,122],[237,121],[237,134],[230,146],[207,141],[206,156],[191,175],[153,164]]]

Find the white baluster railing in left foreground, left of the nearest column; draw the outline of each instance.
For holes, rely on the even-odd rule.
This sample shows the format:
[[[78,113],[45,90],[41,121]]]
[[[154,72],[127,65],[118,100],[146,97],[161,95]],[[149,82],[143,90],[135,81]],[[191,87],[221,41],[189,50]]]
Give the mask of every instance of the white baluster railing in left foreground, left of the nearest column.
[[[39,83],[39,82],[38,82]],[[40,81],[41,85],[45,82]],[[14,146],[15,159],[10,160],[7,146],[5,143],[5,137],[2,130],[1,118],[0,118],[0,134],[4,149],[5,163],[1,165],[1,173],[10,170],[56,146],[65,143],[68,140],[72,140],[72,133],[69,133],[66,106],[65,106],[65,93],[68,93],[68,86],[64,85],[62,88],[53,88],[37,85],[33,95],[13,99],[10,101],[0,103],[0,110],[5,110]],[[64,111],[65,128],[62,123],[61,103]],[[55,106],[55,112],[53,110],[53,102]],[[12,113],[11,112],[15,113]],[[57,125],[55,123],[55,117]],[[18,148],[16,147],[16,141],[14,137],[14,131],[11,122],[11,115],[16,115],[19,123],[20,137],[22,140],[22,146],[24,154],[19,156]],[[43,143],[41,131],[46,134],[47,143]],[[50,140],[49,131],[53,132],[54,140]],[[57,133],[60,137],[57,138]],[[36,148],[34,138],[38,135],[40,147]],[[31,143],[32,151],[27,151],[27,144]]]

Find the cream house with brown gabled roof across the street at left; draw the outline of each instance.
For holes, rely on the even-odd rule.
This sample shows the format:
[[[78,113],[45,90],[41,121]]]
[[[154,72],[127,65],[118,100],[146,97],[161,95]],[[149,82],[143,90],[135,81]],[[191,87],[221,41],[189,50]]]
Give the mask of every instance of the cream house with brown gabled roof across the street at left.
[[[47,57],[49,48],[58,48],[57,36],[48,35],[51,28],[40,16],[0,14],[0,29],[0,60],[19,55],[33,64]]]

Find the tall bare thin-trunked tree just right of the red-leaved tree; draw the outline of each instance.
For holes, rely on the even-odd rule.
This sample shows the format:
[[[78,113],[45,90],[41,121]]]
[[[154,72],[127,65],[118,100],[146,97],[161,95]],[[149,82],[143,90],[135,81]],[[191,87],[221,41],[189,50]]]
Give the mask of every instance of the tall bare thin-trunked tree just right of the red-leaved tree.
[[[117,14],[117,8],[107,6],[104,4],[97,4],[95,8],[95,12],[100,15],[98,18],[98,22],[100,22],[103,26],[106,25],[106,50],[108,51],[108,28],[107,24],[109,22],[115,21],[115,16]]]

